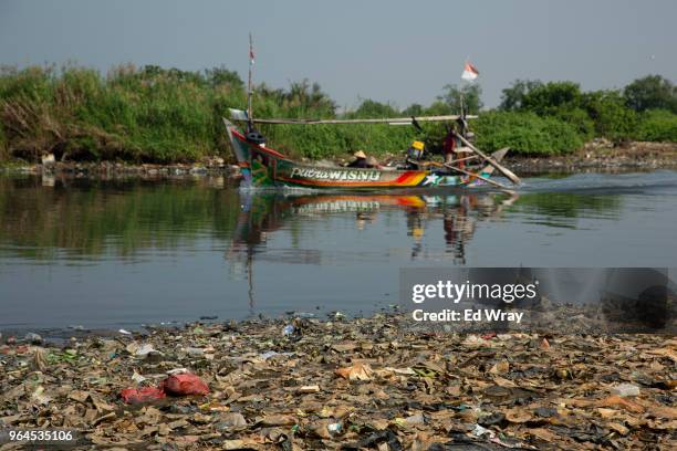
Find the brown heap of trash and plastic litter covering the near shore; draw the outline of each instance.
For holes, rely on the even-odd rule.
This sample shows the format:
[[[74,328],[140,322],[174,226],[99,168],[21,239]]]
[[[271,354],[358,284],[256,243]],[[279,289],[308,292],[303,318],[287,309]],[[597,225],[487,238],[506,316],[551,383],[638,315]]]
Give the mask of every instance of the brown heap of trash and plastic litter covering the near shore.
[[[378,314],[34,338],[0,347],[0,429],[75,429],[75,449],[677,449],[665,336],[437,333]]]

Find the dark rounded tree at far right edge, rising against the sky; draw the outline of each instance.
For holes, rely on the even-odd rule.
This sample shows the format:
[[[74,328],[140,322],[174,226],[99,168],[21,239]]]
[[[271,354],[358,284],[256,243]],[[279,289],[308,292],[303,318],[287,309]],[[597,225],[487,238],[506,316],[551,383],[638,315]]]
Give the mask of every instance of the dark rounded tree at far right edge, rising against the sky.
[[[660,75],[647,75],[625,86],[627,106],[636,112],[669,109],[677,113],[677,86]]]

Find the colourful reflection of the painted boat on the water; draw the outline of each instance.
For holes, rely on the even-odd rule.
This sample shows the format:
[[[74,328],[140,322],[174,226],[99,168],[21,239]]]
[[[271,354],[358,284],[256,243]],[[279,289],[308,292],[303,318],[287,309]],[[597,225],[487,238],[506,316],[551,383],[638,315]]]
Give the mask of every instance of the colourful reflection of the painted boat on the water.
[[[319,250],[299,247],[284,255],[265,252],[270,233],[293,228],[303,218],[354,214],[357,230],[372,227],[379,214],[402,211],[406,218],[412,260],[452,260],[466,264],[466,245],[472,239],[477,223],[499,218],[503,209],[518,200],[517,193],[457,193],[452,196],[386,196],[386,195],[282,195],[240,193],[241,211],[229,260],[274,259],[277,262],[320,264]],[[441,220],[441,228],[439,222]],[[441,249],[424,247],[427,235],[441,234]]]

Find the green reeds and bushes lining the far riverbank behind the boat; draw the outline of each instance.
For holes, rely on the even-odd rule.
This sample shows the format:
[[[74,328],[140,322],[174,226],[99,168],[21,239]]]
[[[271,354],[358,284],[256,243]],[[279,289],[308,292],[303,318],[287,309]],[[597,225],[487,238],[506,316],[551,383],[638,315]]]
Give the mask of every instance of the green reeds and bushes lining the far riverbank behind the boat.
[[[487,150],[509,146],[525,155],[561,155],[593,138],[677,141],[677,86],[658,75],[623,90],[584,92],[573,82],[515,81],[503,90],[493,111],[482,109],[481,86],[446,85],[430,105],[404,109],[363,99],[346,113],[316,83],[288,88],[256,87],[260,117],[334,118],[455,114],[461,92],[478,145]],[[186,72],[158,66],[118,66],[105,76],[69,66],[0,70],[0,160],[39,161],[44,154],[61,160],[131,162],[196,161],[228,155],[220,117],[228,107],[244,108],[246,86],[225,67]],[[294,157],[343,157],[404,150],[413,139],[439,144],[441,125],[263,126],[271,146]]]

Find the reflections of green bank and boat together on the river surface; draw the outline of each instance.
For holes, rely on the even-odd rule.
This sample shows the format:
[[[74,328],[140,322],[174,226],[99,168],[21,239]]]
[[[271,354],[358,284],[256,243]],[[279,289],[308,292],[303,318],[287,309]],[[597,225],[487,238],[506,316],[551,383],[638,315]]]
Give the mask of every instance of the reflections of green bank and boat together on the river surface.
[[[35,261],[100,259],[136,261],[152,249],[190,247],[202,238],[226,242],[227,259],[244,252],[259,260],[320,264],[317,249],[268,254],[269,233],[289,229],[301,241],[309,218],[352,216],[355,231],[386,231],[406,224],[412,260],[441,259],[466,264],[478,223],[499,220],[508,210],[525,224],[577,229],[580,218],[617,219],[619,196],[575,192],[408,195],[284,195],[240,191],[219,179],[148,182],[51,180],[0,177],[0,256]],[[438,222],[441,223],[438,224]],[[383,226],[381,226],[383,227]],[[444,247],[426,247],[441,237]],[[407,240],[396,237],[398,243]],[[237,259],[236,259],[237,260]]]

